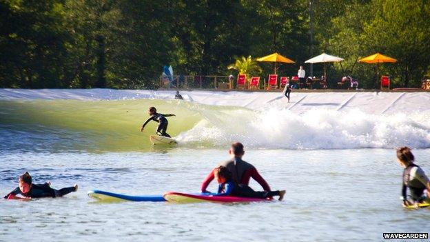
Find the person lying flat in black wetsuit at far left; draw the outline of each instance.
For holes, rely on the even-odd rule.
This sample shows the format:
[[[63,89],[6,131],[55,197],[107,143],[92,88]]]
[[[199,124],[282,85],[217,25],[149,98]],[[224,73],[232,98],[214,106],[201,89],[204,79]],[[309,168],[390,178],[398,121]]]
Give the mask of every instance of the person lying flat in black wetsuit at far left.
[[[28,172],[22,174],[18,179],[19,186],[15,188],[12,192],[9,192],[5,199],[19,199],[18,194],[21,194],[25,198],[29,199],[39,199],[41,197],[59,197],[69,194],[70,192],[76,192],[78,190],[78,185],[74,185],[70,188],[61,188],[56,190],[50,187],[50,183],[44,184],[33,184],[32,177]]]

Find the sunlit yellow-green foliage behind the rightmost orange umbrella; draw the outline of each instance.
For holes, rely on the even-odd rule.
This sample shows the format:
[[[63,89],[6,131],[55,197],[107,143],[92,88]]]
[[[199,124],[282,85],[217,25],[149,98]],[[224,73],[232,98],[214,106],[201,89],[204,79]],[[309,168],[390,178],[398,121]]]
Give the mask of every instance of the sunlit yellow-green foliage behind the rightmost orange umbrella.
[[[420,87],[430,62],[430,2],[357,1],[345,11],[348,14],[331,21],[336,34],[329,40],[329,50],[345,56],[346,74],[356,75],[365,88],[378,87],[376,65],[356,61],[381,52],[398,60],[379,64],[380,74],[389,74],[394,87]]]

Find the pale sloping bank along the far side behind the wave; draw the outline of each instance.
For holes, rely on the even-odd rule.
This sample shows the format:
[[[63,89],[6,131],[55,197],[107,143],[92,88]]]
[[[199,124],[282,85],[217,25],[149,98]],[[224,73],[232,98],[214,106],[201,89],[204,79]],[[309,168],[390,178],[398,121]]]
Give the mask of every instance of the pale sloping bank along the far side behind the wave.
[[[111,89],[0,89],[0,100],[10,99],[174,99],[176,91]],[[429,92],[291,92],[288,103],[280,92],[181,91],[185,101],[231,105],[252,110],[360,110],[367,114],[397,114],[429,110]]]

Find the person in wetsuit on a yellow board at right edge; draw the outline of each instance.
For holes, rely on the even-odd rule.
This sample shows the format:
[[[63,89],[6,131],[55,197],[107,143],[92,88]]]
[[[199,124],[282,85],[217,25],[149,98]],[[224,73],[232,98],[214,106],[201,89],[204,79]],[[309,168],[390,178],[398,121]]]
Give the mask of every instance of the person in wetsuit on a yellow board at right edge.
[[[403,206],[414,205],[418,208],[418,203],[430,203],[430,181],[424,171],[416,164],[415,157],[411,149],[406,146],[400,147],[396,151],[398,163],[405,168],[403,170],[402,196]],[[409,188],[409,198],[407,189]],[[426,191],[427,189],[427,191]]]

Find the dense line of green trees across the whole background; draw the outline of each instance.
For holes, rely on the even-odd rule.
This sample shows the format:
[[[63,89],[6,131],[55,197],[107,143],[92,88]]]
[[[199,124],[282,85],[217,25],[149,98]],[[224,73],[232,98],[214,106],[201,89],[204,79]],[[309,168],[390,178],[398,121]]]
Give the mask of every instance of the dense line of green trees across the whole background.
[[[430,70],[429,17],[427,0],[0,0],[0,87],[156,88],[163,65],[236,74],[235,59],[272,52],[296,61],[280,66],[292,75],[309,71],[310,46],[345,59],[329,65],[331,86],[349,74],[373,88],[375,65],[357,60],[381,52],[398,59],[380,65],[394,86],[418,87]]]

